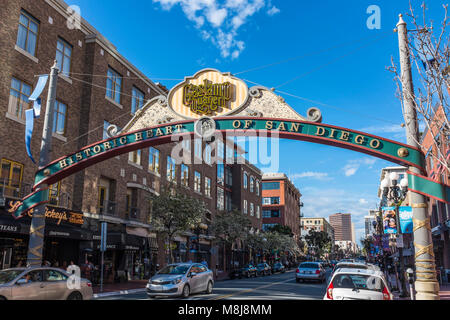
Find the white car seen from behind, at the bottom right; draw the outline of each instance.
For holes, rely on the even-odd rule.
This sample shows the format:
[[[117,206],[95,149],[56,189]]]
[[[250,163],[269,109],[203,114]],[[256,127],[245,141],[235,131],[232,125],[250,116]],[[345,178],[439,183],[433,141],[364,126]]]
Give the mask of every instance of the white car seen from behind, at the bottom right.
[[[393,300],[381,271],[339,269],[333,274],[323,300]]]

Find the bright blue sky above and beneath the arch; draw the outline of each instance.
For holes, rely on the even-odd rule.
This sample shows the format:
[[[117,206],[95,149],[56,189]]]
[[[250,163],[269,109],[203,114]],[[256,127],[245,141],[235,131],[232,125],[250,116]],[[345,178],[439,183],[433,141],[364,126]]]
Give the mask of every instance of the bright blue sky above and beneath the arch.
[[[439,21],[443,2],[427,2],[428,14]],[[302,115],[316,106],[324,123],[406,141],[396,85],[386,67],[391,57],[398,61],[393,29],[398,14],[407,13],[408,0],[67,3],[78,5],[82,16],[122,55],[168,88],[179,81],[164,79],[183,79],[203,68],[216,68],[249,81],[249,86],[275,87]],[[412,3],[420,13],[422,1]],[[381,10],[380,29],[367,27],[370,14],[366,11],[371,5]],[[252,70],[267,65],[271,66]],[[303,194],[305,216],[328,218],[332,213],[350,212],[358,242],[364,233],[364,215],[379,202],[380,170],[391,165],[335,147],[280,143],[279,170]]]

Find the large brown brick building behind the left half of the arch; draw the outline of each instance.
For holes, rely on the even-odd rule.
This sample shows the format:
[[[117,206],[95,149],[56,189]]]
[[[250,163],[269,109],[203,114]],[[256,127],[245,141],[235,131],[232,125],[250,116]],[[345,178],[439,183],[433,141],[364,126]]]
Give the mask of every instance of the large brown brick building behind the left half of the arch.
[[[30,217],[15,221],[8,210],[30,192],[37,170],[24,143],[24,111],[31,107],[28,97],[37,83],[35,76],[48,74],[57,60],[60,74],[51,160],[107,138],[111,124],[124,127],[146,101],[167,95],[163,85],[147,78],[88,22],[81,18],[74,28],[68,24],[69,16],[68,6],[61,0],[0,3],[0,135],[6,137],[0,145],[0,193],[5,199],[3,207],[0,201],[0,268],[26,260]],[[47,89],[41,95],[43,101],[46,96]],[[35,119],[31,141],[35,158],[45,108],[43,103],[42,116]],[[51,186],[44,259],[60,265],[71,260],[81,265],[86,259],[98,264],[100,222],[106,221],[105,265],[111,281],[119,274],[139,277],[148,273],[150,264],[143,266],[144,261],[153,266],[165,264],[167,245],[152,227],[150,195],[157,195],[172,180],[205,202],[209,210],[205,224],[210,225],[222,208],[222,200],[217,198],[221,195],[218,186],[223,186],[218,181],[222,168],[215,163],[175,164],[172,147],[167,144],[122,154]],[[195,140],[186,147],[194,150],[192,157],[210,148]],[[246,170],[253,170],[248,166]],[[225,191],[234,188],[233,183]],[[256,217],[252,221],[260,228]],[[198,240],[195,248],[193,239]],[[200,234],[186,232],[175,239],[176,259],[206,258],[215,265],[211,239],[208,229]]]

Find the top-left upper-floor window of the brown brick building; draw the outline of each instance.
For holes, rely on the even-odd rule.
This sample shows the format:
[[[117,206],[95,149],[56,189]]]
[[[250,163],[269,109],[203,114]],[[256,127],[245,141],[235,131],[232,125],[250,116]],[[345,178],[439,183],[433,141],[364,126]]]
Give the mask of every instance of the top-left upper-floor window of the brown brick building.
[[[19,18],[19,31],[17,33],[17,46],[36,56],[39,21],[22,10]]]

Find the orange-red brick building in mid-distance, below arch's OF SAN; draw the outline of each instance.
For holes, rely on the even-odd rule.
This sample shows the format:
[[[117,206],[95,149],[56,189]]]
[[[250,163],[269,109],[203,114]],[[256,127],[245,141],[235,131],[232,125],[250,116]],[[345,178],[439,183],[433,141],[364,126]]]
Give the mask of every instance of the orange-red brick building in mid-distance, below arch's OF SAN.
[[[284,173],[264,173],[262,176],[263,230],[277,224],[288,226],[294,239],[300,236],[300,191]]]

